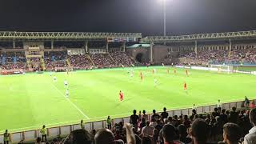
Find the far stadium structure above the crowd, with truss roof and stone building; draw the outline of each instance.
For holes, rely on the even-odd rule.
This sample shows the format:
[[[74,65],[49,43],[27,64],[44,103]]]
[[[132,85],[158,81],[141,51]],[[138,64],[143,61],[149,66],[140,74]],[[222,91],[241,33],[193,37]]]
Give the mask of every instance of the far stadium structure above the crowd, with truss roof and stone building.
[[[44,58],[45,52],[65,51],[67,54],[108,53],[123,51],[134,61],[152,64],[179,63],[180,52],[228,50],[255,47],[256,30],[190,34],[181,36],[146,36],[141,33],[82,33],[82,32],[0,32],[2,63],[8,52],[21,53],[27,58]],[[140,44],[138,44],[140,43]],[[163,44],[166,45],[163,45]],[[137,46],[131,46],[137,44]],[[246,45],[245,45],[246,44]],[[13,58],[14,62],[16,58]],[[93,62],[92,62],[93,63]],[[203,63],[203,62],[201,62]],[[205,64],[207,62],[204,62]],[[28,64],[27,64],[28,65]]]

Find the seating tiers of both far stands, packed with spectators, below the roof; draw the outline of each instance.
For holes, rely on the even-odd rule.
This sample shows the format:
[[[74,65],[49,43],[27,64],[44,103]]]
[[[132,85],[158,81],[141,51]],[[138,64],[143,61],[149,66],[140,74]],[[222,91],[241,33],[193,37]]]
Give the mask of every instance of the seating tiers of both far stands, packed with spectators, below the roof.
[[[3,43],[3,46],[9,46],[8,43]],[[100,48],[97,50],[105,50],[102,48],[104,43],[90,42],[90,46]],[[57,43],[54,50],[45,50],[43,53],[43,61],[46,70],[53,70],[54,67],[69,66],[67,60],[70,60],[70,66],[75,69],[86,69],[86,67],[96,66],[98,68],[117,67],[117,66],[130,66],[138,63],[133,55],[126,53],[122,50],[120,44],[111,43],[110,52],[103,51],[103,53],[91,52],[79,54],[80,56],[69,55],[66,52],[66,47],[82,47],[81,43]],[[120,47],[121,46],[121,47]],[[170,46],[171,53],[166,53],[162,56],[161,62],[154,62],[155,64],[180,64],[180,65],[208,65],[208,64],[227,64],[227,65],[254,65],[256,64],[256,50],[252,44],[237,44],[228,50],[226,45],[200,45],[198,50],[193,50],[193,46]],[[59,51],[56,49],[59,48]],[[138,48],[139,49],[139,48]],[[169,49],[169,48],[168,48]],[[25,57],[22,51],[8,51],[1,53],[1,68],[2,70],[11,69],[42,69],[42,60],[40,58]],[[160,58],[161,59],[161,58]],[[146,63],[146,62],[142,62]],[[38,68],[39,67],[39,68]]]

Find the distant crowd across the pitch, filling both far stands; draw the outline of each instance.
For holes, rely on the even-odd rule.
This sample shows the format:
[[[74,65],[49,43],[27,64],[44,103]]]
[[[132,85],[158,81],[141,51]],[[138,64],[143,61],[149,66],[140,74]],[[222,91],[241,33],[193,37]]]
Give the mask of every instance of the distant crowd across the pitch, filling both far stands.
[[[95,65],[98,68],[115,67],[115,66],[130,66],[134,64],[125,52],[112,51],[109,54],[89,54],[86,56],[70,56],[70,65],[79,69],[84,69],[87,66]],[[46,69],[53,69],[54,67],[67,66],[66,51],[45,51],[44,62]],[[175,58],[187,58],[190,64],[210,63],[210,64],[256,64],[256,49],[253,47],[236,48],[229,50],[200,50],[198,48],[197,54],[194,51],[186,50],[178,52]],[[26,58],[24,52],[7,52],[1,54],[0,65],[2,69],[26,68]],[[4,62],[2,62],[4,61]],[[23,63],[22,63],[23,62]],[[32,63],[39,63],[39,60],[33,59]],[[166,63],[173,62],[172,57],[164,58]]]

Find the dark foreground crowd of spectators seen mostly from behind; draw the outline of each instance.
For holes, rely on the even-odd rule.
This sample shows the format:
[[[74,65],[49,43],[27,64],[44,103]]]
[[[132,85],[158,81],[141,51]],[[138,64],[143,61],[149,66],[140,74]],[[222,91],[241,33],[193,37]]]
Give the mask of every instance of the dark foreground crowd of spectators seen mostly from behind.
[[[192,114],[170,117],[163,109],[161,114],[153,110],[149,116],[133,111],[130,124],[118,122],[102,130],[74,130],[66,138],[54,138],[53,144],[105,144],[105,143],[141,143],[141,144],[254,144],[256,143],[256,109],[225,110],[216,107],[210,114],[197,114],[193,107]],[[37,138],[41,143],[41,138]],[[47,142],[46,142],[47,143]]]

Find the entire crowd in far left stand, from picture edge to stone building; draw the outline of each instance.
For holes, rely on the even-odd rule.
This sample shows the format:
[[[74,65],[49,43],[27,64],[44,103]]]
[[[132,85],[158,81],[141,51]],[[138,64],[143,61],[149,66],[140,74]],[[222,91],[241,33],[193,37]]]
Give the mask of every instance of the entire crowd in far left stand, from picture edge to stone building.
[[[16,55],[14,62],[14,55]],[[26,66],[25,54],[8,53],[1,55],[0,64],[2,69],[26,69],[40,68],[42,66],[41,58],[29,58]],[[3,58],[4,57],[4,58]],[[2,62],[2,58],[5,62]],[[91,58],[91,59],[90,59]],[[111,52],[110,54],[79,54],[68,56],[64,51],[46,51],[44,53],[44,63],[46,70],[53,70],[55,67],[66,67],[68,62],[74,69],[87,69],[93,65],[98,68],[116,67],[116,66],[130,66],[133,64],[132,59],[124,52]]]

